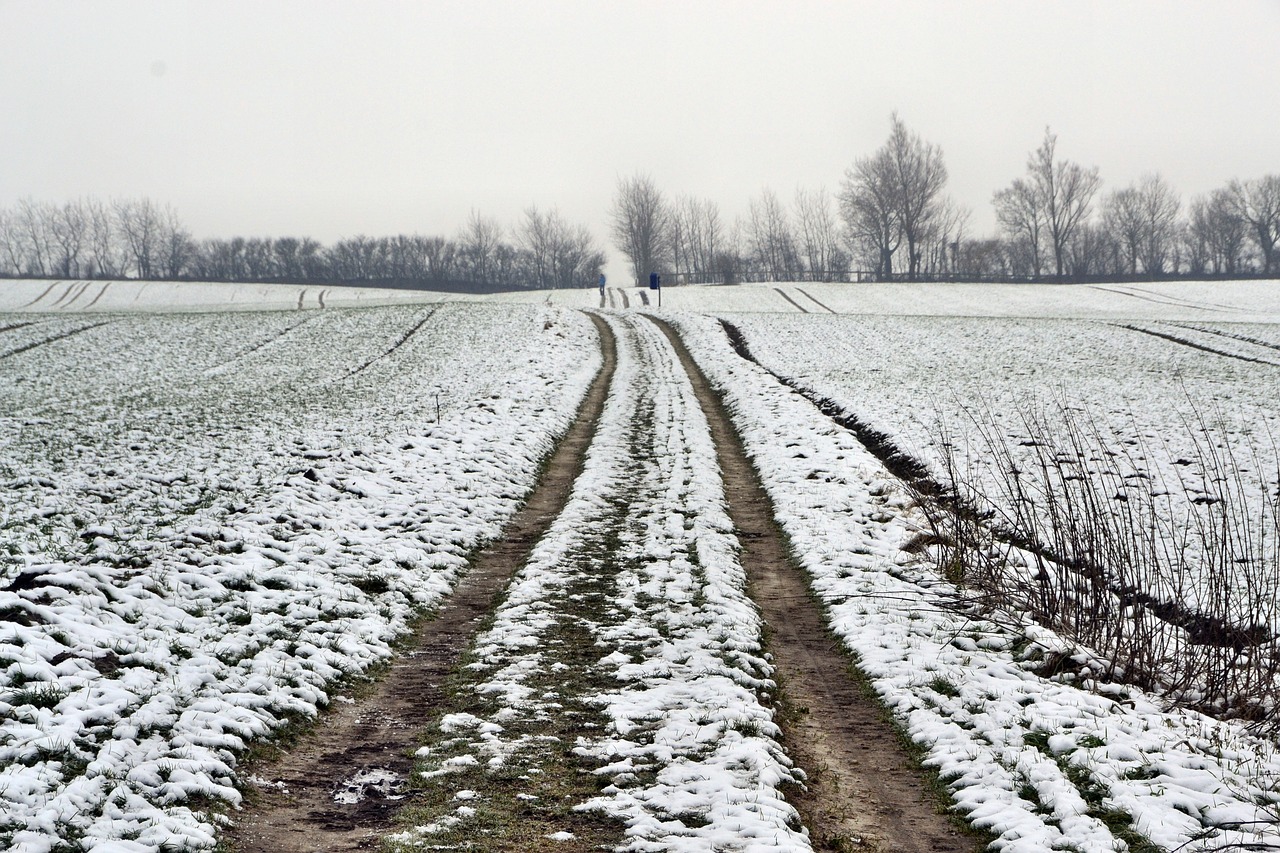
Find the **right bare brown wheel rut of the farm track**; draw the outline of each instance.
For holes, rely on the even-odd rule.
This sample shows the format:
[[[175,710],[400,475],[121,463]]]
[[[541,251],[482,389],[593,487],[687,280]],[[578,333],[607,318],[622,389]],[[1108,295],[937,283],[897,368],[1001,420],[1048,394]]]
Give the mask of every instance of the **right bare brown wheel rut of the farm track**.
[[[791,758],[809,774],[795,806],[815,850],[959,853],[977,849],[929,800],[884,711],[850,671],[788,558],[759,475],[719,397],[666,323],[710,424],[728,514],[742,546],[751,594],[769,626],[769,651],[791,719],[781,721]]]

